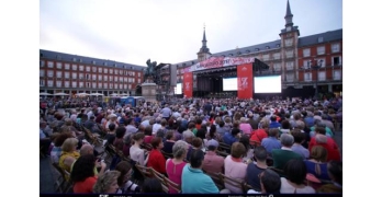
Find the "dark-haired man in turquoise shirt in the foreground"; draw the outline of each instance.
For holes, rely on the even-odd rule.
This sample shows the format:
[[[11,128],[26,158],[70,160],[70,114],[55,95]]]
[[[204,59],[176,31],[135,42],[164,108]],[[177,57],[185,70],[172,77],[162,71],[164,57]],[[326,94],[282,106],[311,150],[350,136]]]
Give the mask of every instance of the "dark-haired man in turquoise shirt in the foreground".
[[[181,189],[183,194],[218,194],[215,183],[202,171],[203,160],[202,150],[192,152],[190,164],[187,164],[182,172]]]

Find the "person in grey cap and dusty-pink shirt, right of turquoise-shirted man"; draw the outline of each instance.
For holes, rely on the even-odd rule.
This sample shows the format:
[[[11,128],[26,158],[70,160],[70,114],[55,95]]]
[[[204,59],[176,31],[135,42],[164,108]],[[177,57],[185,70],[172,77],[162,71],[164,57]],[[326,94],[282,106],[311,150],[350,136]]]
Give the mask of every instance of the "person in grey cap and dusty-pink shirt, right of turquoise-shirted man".
[[[223,173],[224,158],[216,154],[218,142],[214,139],[207,141],[207,151],[204,155],[202,169],[207,173]]]

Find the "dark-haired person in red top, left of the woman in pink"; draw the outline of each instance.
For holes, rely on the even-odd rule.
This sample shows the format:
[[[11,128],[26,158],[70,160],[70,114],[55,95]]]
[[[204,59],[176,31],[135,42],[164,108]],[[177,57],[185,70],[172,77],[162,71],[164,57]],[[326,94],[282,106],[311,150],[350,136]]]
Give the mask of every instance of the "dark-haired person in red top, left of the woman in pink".
[[[161,138],[155,137],[151,139],[153,149],[148,155],[147,166],[153,167],[161,174],[166,174],[166,159],[160,150],[164,148]]]

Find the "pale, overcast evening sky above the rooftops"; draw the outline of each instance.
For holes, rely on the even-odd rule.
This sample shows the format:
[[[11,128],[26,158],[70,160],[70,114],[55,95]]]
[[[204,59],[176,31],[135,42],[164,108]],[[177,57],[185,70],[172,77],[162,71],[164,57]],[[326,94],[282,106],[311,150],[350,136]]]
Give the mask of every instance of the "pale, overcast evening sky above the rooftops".
[[[290,0],[300,37],[342,28],[341,0]],[[40,48],[146,66],[280,39],[286,0],[40,0]]]

